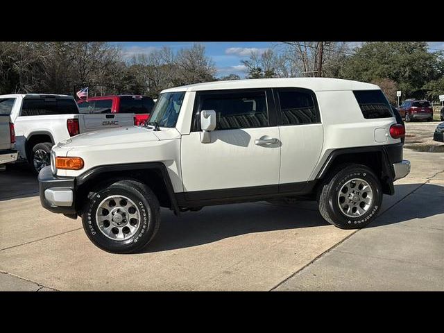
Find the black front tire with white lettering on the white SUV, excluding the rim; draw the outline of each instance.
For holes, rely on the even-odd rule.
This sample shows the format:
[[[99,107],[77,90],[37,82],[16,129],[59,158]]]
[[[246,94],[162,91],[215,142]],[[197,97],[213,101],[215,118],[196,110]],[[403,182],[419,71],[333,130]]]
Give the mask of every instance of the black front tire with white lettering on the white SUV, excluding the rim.
[[[136,203],[141,221],[133,236],[125,240],[110,239],[99,229],[96,212],[103,198],[126,196]],[[135,180],[117,180],[103,184],[90,192],[83,207],[83,230],[97,247],[109,253],[136,253],[144,248],[154,237],[160,226],[160,205],[149,187]]]

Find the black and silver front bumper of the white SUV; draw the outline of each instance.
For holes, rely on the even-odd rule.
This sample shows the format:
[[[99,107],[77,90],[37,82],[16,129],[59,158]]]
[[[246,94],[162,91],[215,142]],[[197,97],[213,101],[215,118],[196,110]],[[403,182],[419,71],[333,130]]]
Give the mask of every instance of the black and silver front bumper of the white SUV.
[[[51,167],[39,173],[40,203],[53,213],[76,214],[76,191],[74,177],[54,176]]]

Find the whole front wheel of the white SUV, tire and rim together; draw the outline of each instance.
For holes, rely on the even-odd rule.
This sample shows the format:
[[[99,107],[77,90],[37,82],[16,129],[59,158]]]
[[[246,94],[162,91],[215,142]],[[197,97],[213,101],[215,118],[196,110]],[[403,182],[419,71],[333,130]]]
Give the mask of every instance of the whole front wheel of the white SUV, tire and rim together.
[[[99,248],[110,253],[135,253],[155,236],[160,205],[149,187],[135,180],[119,180],[88,195],[83,229]]]

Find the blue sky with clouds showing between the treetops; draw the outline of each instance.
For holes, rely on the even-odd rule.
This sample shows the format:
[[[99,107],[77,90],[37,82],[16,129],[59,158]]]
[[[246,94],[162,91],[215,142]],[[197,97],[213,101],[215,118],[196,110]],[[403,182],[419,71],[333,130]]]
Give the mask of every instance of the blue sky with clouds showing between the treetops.
[[[134,54],[150,53],[163,46],[169,46],[173,51],[190,47],[194,42],[114,42],[121,46],[123,55],[131,58]],[[244,77],[246,74],[241,60],[248,59],[251,51],[263,52],[273,48],[276,42],[199,42],[204,44],[207,56],[210,56],[216,63],[217,76],[228,74],[238,74]],[[359,45],[359,42],[353,42]],[[444,49],[444,42],[429,42],[432,49]],[[434,50],[432,50],[434,51]]]

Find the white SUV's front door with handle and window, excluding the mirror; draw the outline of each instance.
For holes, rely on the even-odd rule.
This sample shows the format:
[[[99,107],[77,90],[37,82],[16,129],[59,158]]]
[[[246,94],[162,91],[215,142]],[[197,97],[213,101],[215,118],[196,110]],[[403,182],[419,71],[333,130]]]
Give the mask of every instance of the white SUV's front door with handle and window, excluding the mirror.
[[[271,89],[196,93],[196,118],[181,147],[188,200],[277,193],[280,135],[278,127],[271,126],[272,100]],[[214,110],[217,116],[209,143],[200,140],[201,110]]]

